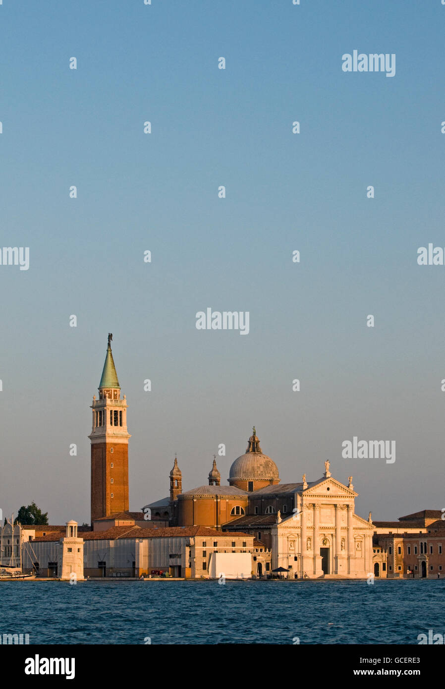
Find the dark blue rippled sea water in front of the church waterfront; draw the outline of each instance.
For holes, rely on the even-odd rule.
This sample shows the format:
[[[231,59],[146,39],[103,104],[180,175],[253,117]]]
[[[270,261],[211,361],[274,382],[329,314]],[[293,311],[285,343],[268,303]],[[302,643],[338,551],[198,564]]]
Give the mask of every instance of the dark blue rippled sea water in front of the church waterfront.
[[[0,634],[30,644],[417,644],[445,633],[445,579],[1,582]]]

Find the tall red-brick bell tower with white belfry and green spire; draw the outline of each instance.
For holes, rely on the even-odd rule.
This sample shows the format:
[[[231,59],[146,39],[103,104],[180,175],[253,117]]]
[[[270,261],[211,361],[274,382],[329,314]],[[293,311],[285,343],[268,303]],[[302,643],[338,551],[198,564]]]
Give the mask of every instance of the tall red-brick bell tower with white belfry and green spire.
[[[127,402],[121,400],[116,367],[108,335],[99,400],[93,396],[91,435],[91,525],[95,519],[128,511]]]

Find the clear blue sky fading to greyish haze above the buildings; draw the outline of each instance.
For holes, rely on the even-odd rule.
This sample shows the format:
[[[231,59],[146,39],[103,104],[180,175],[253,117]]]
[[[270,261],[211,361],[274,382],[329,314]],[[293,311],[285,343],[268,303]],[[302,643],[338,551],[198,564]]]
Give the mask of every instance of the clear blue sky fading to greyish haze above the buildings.
[[[3,0],[0,245],[30,247],[0,267],[3,513],[89,519],[110,331],[132,509],[175,452],[186,490],[220,443],[228,477],[253,424],[282,482],[329,459],[361,515],[442,508],[445,267],[416,258],[445,246],[444,23],[439,0]],[[353,50],[395,76],[342,72]],[[196,330],[207,307],[249,335]],[[395,463],[343,460],[354,435]]]

